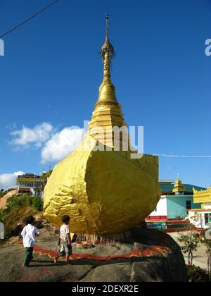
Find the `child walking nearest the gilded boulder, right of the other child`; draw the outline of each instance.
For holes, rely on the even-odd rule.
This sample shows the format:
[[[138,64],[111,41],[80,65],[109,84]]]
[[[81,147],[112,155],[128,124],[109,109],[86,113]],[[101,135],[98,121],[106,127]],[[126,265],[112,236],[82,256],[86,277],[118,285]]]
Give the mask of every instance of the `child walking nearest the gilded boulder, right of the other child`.
[[[59,240],[58,246],[59,251],[58,255],[54,257],[54,263],[56,264],[58,258],[65,256],[65,261],[68,263],[68,259],[70,255],[72,255],[72,246],[71,246],[71,238],[70,238],[70,229],[68,224],[70,223],[70,217],[68,215],[64,215],[62,218],[63,225],[60,227],[59,231]]]

